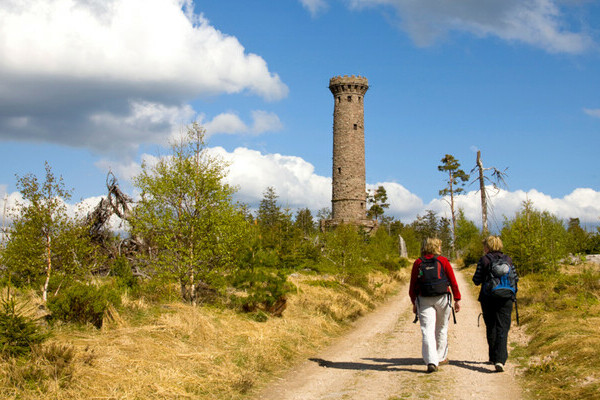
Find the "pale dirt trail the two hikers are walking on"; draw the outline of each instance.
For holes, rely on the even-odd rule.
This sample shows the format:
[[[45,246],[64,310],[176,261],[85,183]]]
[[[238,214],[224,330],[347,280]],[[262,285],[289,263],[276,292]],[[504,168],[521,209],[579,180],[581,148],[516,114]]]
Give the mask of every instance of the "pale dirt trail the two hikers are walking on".
[[[421,331],[413,324],[408,288],[357,321],[351,332],[307,360],[255,398],[257,400],[521,399],[510,358],[496,373],[487,361],[487,343],[477,299],[456,271],[463,296],[457,324],[448,333],[449,360],[425,373]],[[512,331],[511,331],[512,333]],[[510,335],[509,333],[509,341]],[[501,395],[500,395],[501,393]]]

